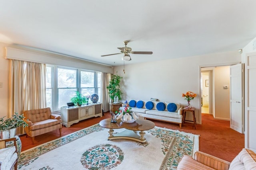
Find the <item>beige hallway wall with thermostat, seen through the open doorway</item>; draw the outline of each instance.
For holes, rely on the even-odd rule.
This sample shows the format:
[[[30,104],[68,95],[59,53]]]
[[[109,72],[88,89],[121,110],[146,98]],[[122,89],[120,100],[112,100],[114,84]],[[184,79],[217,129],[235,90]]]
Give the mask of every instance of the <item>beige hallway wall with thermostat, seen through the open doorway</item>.
[[[230,120],[230,66],[214,68],[214,96],[214,118]]]

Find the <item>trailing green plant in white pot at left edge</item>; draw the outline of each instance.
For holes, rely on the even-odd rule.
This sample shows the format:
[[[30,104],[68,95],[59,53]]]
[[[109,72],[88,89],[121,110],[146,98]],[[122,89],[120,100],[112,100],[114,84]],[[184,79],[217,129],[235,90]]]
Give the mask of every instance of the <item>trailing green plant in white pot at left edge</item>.
[[[8,139],[16,135],[16,128],[28,124],[23,120],[24,116],[14,112],[11,118],[4,120],[4,117],[0,118],[0,139]]]

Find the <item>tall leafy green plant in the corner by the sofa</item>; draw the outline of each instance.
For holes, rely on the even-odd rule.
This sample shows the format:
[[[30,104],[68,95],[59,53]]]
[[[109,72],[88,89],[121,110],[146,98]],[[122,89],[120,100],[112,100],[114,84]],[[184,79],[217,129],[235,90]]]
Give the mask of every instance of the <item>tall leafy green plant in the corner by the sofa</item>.
[[[122,91],[119,89],[122,78],[121,76],[113,75],[107,86],[109,97],[114,100],[114,103],[119,103],[118,100],[122,99]]]

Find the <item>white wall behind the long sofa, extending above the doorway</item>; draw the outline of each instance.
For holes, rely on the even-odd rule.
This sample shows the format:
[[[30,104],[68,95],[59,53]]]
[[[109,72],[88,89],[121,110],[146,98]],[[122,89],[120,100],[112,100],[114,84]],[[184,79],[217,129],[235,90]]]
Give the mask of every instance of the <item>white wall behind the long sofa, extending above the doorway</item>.
[[[153,54],[156,55],[157,54]],[[131,56],[136,60],[137,56]],[[186,106],[182,93],[192,91],[198,94],[191,105],[196,107],[196,121],[200,122],[200,66],[219,65],[223,63],[241,62],[237,51],[214,53],[201,56],[184,57],[148,63],[128,64],[125,74],[123,66],[114,67],[114,73],[123,76],[122,100],[150,100],[179,102]]]

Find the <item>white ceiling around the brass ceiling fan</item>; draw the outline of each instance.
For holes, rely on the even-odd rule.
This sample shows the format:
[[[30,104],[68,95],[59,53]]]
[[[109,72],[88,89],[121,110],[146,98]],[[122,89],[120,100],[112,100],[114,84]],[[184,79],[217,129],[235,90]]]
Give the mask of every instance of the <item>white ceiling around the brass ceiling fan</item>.
[[[256,37],[256,0],[0,0],[0,42],[122,65],[234,51]]]

